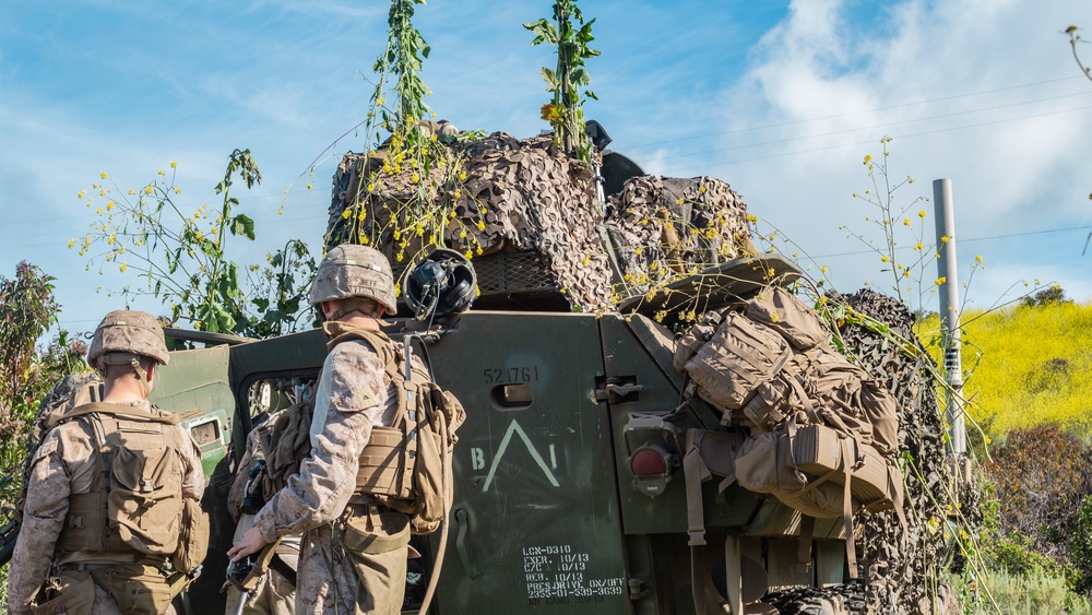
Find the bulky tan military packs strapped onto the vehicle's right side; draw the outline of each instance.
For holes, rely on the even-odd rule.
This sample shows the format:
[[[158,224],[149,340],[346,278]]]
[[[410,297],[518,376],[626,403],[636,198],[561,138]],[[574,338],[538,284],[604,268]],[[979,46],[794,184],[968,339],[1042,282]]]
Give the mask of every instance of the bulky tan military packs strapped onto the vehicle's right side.
[[[905,528],[902,475],[886,457],[899,449],[898,407],[828,336],[814,310],[768,287],[741,307],[707,315],[679,340],[673,363],[690,378],[685,394],[696,390],[721,410],[723,425],[749,427],[731,480],[805,518],[841,517],[856,576],[853,510],[894,508]],[[810,540],[802,531],[802,544]]]

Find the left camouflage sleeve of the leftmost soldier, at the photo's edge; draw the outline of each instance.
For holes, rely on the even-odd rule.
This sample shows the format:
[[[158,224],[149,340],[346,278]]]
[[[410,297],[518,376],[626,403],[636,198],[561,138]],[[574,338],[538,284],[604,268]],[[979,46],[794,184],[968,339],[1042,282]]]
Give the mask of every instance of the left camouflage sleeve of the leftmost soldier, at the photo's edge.
[[[49,433],[34,454],[28,475],[23,527],[8,568],[8,611],[29,613],[54,558],[54,547],[68,515],[71,475],[64,464],[60,430]]]

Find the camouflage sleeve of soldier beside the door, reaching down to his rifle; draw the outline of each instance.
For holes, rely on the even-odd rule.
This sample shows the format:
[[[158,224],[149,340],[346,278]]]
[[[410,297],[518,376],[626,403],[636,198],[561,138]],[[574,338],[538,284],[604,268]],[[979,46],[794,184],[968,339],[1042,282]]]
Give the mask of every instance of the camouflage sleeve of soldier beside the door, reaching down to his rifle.
[[[306,532],[342,513],[356,487],[360,452],[385,403],[385,371],[370,346],[335,346],[316,391],[311,454],[254,519],[265,540]]]

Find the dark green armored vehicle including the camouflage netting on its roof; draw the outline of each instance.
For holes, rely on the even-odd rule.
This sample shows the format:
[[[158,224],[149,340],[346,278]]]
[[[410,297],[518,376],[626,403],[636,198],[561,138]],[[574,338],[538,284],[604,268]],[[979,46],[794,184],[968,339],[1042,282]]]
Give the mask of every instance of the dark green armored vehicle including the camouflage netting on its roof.
[[[464,191],[476,200],[456,208],[473,246],[486,252],[473,258],[473,309],[420,320],[410,306],[387,329],[392,339],[418,340],[437,382],[467,413],[429,612],[866,612],[866,575],[899,571],[866,545],[862,572],[851,579],[848,515],[816,519],[722,481],[750,427],[695,394],[676,365],[676,338],[702,314],[735,309],[803,273],[784,257],[755,251],[745,205],[723,182],[649,178],[609,152],[600,173],[587,174],[558,163],[542,140],[491,139],[467,146]],[[328,238],[368,164],[346,157],[335,175]],[[553,173],[550,165],[561,166]],[[586,189],[543,187],[573,181]],[[446,239],[459,250],[472,246]],[[211,478],[203,505],[213,544],[181,602],[189,612],[222,612],[235,530],[226,500],[235,474],[248,470],[237,459],[247,434],[317,377],[325,339],[321,330],[261,341],[168,335],[205,346],[173,353],[153,392],[156,404],[181,414]],[[876,352],[890,354],[886,345]],[[902,379],[903,390],[916,391],[904,378],[919,372],[913,365],[881,368],[889,386]],[[688,456],[702,452],[701,437],[716,440],[717,456]],[[848,501],[848,476],[842,483]],[[852,496],[859,507],[863,496]],[[415,537],[423,558],[411,566],[407,611],[440,568],[441,535]]]

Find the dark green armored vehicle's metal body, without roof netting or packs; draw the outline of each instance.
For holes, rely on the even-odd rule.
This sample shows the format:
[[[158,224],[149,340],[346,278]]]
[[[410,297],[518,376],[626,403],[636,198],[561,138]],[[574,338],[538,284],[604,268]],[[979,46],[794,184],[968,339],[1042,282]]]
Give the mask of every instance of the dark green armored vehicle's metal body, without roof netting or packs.
[[[774,256],[725,263],[719,292],[747,296],[770,269],[794,271]],[[697,399],[678,410],[685,382],[672,366],[675,341],[652,318],[471,310],[430,335],[414,319],[395,320],[388,333],[434,340],[425,347],[436,380],[467,411],[436,613],[692,613],[696,587],[744,604],[771,589],[844,581],[841,519],[815,528],[811,566],[800,566],[800,515],[738,485],[702,485],[704,545],[691,545],[685,434],[732,431]],[[286,405],[293,387],[317,377],[325,338],[199,336],[229,344],[174,353],[154,394],[182,413],[212,477],[214,544],[189,596],[204,611],[217,606],[234,531],[229,451],[242,450],[247,431]],[[187,418],[187,409],[210,407],[217,410]],[[438,537],[420,549],[426,576]]]

